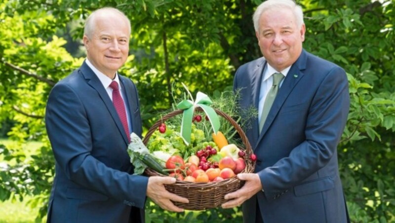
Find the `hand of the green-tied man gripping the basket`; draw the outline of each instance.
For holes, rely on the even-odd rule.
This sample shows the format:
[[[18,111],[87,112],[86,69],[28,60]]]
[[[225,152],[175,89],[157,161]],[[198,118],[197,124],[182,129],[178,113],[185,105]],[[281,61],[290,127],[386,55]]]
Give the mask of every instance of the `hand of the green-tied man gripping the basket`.
[[[225,199],[229,201],[222,204],[222,208],[237,207],[252,197],[254,194],[262,190],[262,184],[258,174],[237,174],[237,178],[245,181],[245,184],[240,189],[225,195]]]

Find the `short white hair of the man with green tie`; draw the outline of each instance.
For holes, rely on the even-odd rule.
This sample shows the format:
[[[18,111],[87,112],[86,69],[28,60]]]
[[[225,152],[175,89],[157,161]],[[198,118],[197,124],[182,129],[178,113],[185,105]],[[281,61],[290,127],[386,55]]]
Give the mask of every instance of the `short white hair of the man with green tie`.
[[[255,32],[259,30],[259,19],[262,13],[271,8],[289,8],[293,11],[296,18],[296,25],[298,28],[302,26],[305,22],[303,21],[303,10],[302,7],[294,0],[266,0],[262,2],[255,10],[252,16],[252,21],[254,22]]]

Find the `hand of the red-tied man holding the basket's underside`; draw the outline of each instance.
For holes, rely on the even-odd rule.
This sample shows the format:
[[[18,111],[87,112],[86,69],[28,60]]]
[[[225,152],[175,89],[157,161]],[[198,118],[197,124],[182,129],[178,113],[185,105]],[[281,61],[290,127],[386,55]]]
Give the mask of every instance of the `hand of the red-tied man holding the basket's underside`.
[[[175,182],[176,179],[171,177],[150,177],[148,179],[147,197],[151,198],[156,204],[165,210],[183,212],[184,209],[175,206],[171,201],[189,203],[188,199],[180,197],[174,193],[170,193],[164,187],[166,184],[174,184]]]

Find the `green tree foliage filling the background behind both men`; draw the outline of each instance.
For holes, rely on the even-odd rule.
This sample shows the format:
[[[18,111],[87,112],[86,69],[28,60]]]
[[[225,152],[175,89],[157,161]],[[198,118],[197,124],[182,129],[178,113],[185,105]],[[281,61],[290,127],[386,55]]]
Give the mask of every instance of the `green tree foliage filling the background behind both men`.
[[[113,6],[132,23],[130,56],[121,73],[141,96],[144,127],[172,103],[171,85],[212,94],[232,85],[243,63],[261,56],[251,21],[261,0],[5,0],[0,3],[0,126],[19,143],[43,146],[29,158],[0,145],[0,200],[36,197],[46,213],[54,159],[43,115],[51,87],[79,67],[66,50],[94,9]],[[304,48],[342,66],[351,111],[339,147],[341,178],[353,222],[395,220],[395,6],[391,0],[299,0]],[[77,49],[78,50],[78,49]],[[177,97],[175,92],[175,96]],[[174,95],[173,95],[174,96]],[[5,131],[5,130],[4,130]],[[3,131],[2,131],[3,132]],[[172,214],[147,202],[148,220],[240,221],[239,209]]]

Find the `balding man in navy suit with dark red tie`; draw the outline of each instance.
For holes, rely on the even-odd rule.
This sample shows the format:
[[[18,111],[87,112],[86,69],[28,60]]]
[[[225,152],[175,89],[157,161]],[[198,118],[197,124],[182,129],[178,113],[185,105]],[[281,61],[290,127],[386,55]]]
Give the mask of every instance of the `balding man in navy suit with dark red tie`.
[[[122,12],[96,10],[85,24],[86,60],[51,90],[45,124],[56,172],[48,222],[144,222],[146,197],[176,212],[183,210],[171,200],[188,202],[165,189],[174,178],[132,175],[126,150],[129,133],[141,137],[139,100],[134,83],[117,73],[129,38]]]

